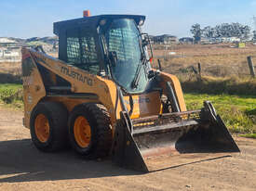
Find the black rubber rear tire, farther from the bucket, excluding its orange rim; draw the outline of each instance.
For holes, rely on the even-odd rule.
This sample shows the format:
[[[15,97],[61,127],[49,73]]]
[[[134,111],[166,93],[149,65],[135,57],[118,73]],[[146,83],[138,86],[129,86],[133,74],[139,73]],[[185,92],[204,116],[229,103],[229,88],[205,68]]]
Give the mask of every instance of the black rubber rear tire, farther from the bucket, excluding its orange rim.
[[[44,114],[49,122],[49,137],[47,142],[41,142],[34,130],[36,116]],[[42,102],[35,106],[30,120],[30,133],[34,146],[45,152],[61,150],[68,144],[68,110],[57,102]]]

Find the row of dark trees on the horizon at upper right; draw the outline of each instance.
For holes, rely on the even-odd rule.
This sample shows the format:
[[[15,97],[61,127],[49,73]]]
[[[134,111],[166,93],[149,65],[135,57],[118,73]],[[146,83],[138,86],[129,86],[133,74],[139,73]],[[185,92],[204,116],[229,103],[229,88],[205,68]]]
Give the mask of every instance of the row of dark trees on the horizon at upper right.
[[[195,42],[205,38],[222,38],[222,37],[237,37],[242,40],[249,39],[250,27],[238,22],[222,23],[215,27],[207,26],[201,29],[200,24],[192,25],[190,32],[194,35]],[[253,38],[256,39],[256,31],[253,31]]]

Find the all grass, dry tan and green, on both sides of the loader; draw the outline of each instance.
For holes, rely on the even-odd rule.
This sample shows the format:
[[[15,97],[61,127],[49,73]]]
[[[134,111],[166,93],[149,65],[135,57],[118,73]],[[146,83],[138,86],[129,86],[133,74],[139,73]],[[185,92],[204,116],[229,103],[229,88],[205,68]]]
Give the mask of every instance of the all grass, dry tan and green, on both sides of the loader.
[[[177,55],[168,56],[168,52]],[[174,45],[166,50],[159,45],[154,54],[161,59],[164,71],[179,76],[188,109],[202,108],[203,101],[209,100],[231,132],[255,138],[256,79],[249,78],[247,64],[247,57],[256,55],[255,46]],[[204,75],[200,80],[191,72],[191,66],[197,69],[198,62]],[[156,62],[154,66],[157,68]],[[1,105],[23,108],[20,73],[20,63],[0,64]]]

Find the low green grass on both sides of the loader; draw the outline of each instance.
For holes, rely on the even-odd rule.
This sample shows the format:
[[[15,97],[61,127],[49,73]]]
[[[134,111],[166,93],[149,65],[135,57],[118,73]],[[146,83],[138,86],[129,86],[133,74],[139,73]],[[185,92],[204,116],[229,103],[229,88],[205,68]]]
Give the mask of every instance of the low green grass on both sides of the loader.
[[[22,109],[22,85],[0,84],[0,103],[7,107]],[[230,96],[207,94],[184,94],[187,109],[203,107],[205,100],[211,101],[233,133],[256,134],[256,96]]]

